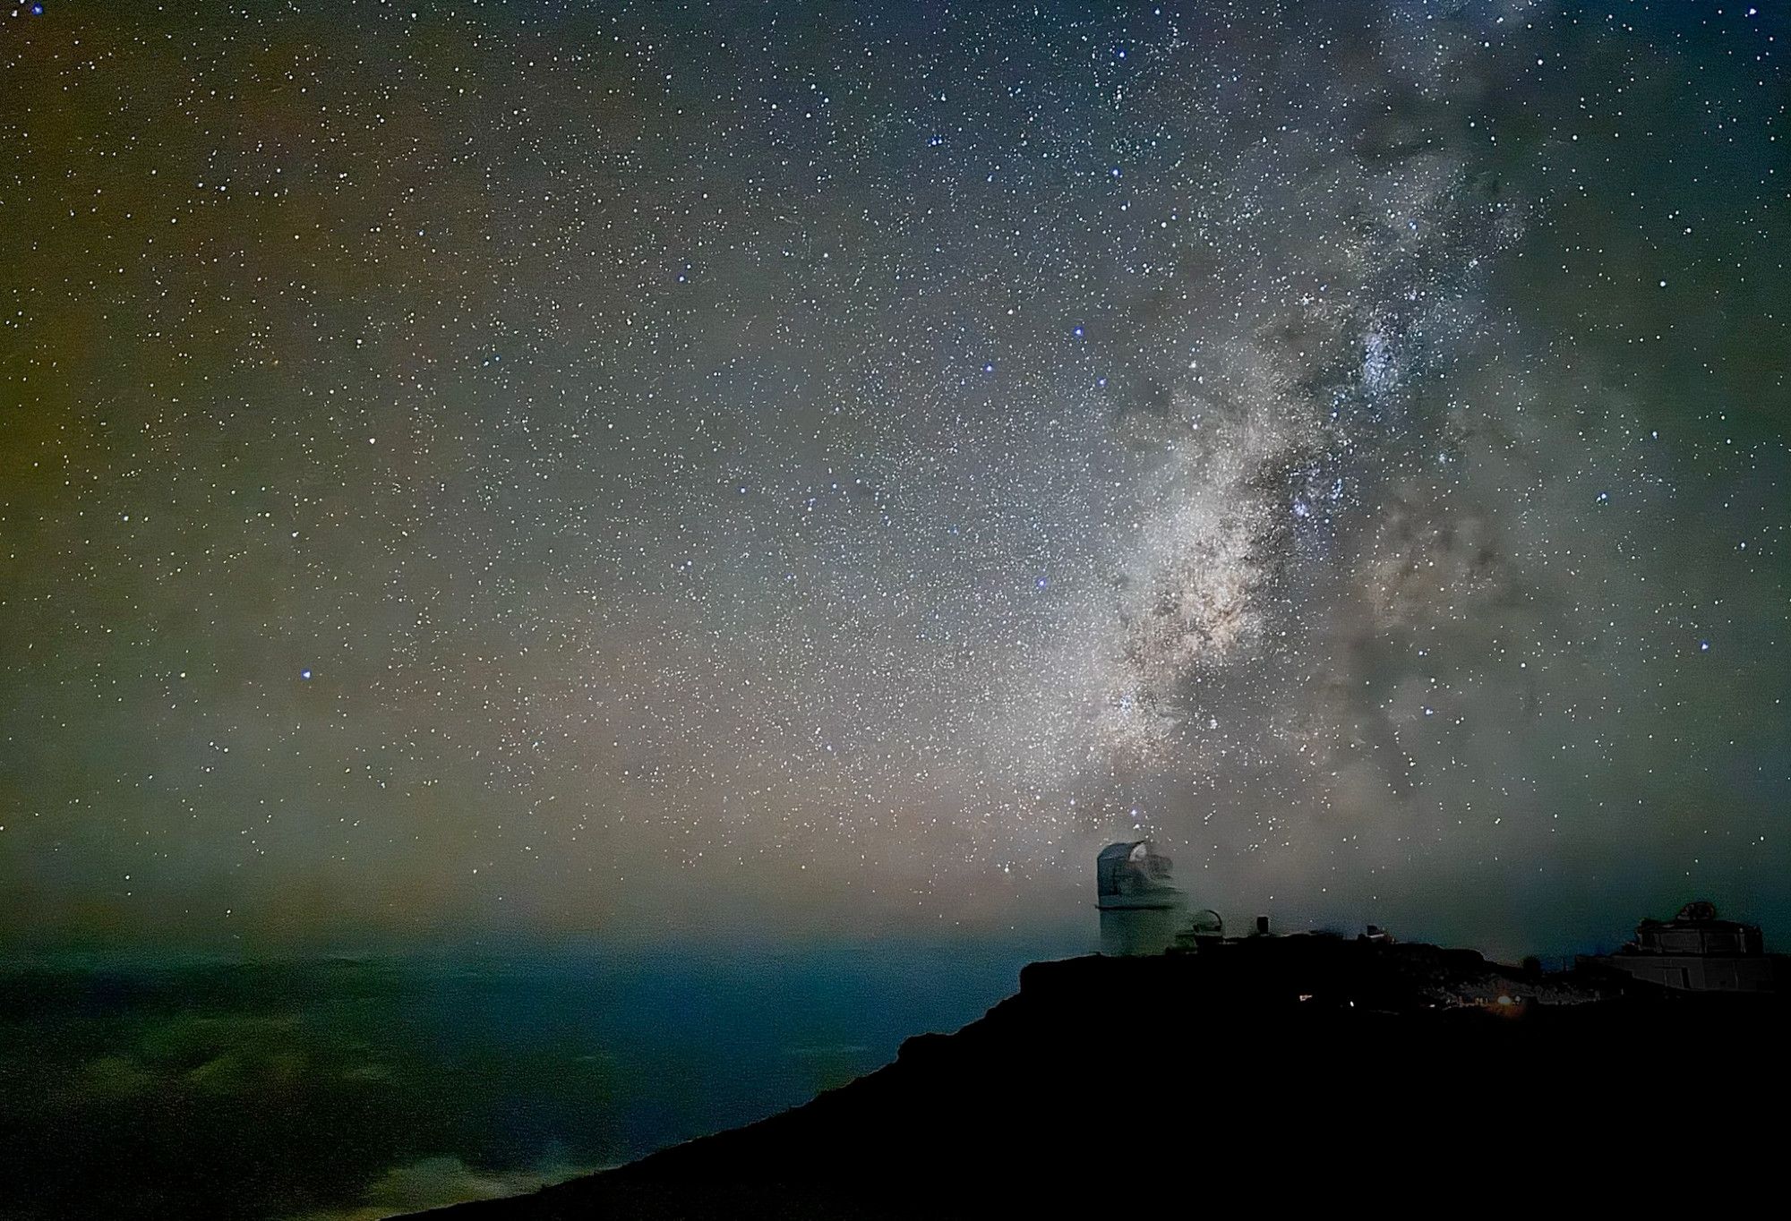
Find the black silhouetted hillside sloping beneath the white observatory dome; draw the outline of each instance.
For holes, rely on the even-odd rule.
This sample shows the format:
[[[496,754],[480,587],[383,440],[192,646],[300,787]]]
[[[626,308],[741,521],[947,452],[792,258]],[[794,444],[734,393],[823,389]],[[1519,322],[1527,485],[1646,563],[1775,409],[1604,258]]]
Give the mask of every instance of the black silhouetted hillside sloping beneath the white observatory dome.
[[[1778,997],[1320,936],[1037,963],[983,1019],[912,1038],[806,1106],[432,1216],[1182,1214],[1238,1192],[1277,1212],[1770,1200],[1786,1017]]]

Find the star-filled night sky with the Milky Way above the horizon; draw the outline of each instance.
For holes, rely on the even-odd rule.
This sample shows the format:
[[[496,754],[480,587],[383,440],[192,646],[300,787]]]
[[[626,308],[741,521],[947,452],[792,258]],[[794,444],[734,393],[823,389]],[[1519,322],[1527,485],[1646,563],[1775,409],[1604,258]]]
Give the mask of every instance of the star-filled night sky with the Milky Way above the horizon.
[[[1786,944],[1787,41],[13,5],[0,938]]]

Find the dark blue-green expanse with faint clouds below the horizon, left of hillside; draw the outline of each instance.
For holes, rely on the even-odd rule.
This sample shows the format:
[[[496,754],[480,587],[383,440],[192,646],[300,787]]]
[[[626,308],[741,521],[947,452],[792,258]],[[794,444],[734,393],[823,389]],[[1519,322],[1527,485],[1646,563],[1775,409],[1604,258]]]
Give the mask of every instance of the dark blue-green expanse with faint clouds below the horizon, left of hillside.
[[[750,1123],[1078,944],[0,972],[0,1216],[389,1216]]]

